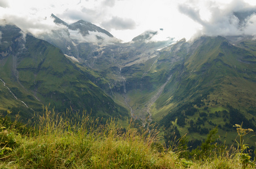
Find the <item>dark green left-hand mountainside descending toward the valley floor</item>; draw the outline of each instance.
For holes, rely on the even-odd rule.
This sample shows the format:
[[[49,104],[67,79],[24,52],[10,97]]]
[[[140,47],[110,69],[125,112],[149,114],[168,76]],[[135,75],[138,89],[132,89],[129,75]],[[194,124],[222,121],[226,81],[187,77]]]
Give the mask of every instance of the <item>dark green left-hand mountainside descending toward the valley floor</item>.
[[[58,112],[72,108],[99,117],[128,115],[59,48],[15,25],[0,26],[0,30],[1,109],[19,106],[33,114],[50,103]]]

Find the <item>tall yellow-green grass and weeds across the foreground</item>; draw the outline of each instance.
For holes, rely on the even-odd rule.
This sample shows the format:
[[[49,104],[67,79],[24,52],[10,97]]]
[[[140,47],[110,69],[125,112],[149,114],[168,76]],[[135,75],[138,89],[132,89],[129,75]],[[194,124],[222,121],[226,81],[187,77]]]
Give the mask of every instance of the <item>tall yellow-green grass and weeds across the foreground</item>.
[[[86,112],[81,117],[68,118],[70,112],[55,114],[46,107],[36,122],[23,125],[18,122],[18,115],[11,122],[8,117],[12,112],[7,112],[0,118],[1,168],[253,168],[254,165],[242,140],[252,130],[238,124],[242,140],[238,148],[219,144],[215,127],[198,148],[189,151],[186,136],[172,140],[167,148],[154,125],[140,127],[132,120],[125,129],[113,118],[101,124],[101,119]]]

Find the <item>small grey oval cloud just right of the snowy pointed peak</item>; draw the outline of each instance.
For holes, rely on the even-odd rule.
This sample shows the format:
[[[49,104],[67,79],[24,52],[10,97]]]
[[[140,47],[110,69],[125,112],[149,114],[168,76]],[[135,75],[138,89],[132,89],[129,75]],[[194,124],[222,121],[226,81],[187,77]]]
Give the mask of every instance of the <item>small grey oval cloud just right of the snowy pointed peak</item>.
[[[109,21],[103,21],[101,25],[107,30],[126,30],[136,28],[136,23],[132,19],[124,19],[118,16],[112,17]]]

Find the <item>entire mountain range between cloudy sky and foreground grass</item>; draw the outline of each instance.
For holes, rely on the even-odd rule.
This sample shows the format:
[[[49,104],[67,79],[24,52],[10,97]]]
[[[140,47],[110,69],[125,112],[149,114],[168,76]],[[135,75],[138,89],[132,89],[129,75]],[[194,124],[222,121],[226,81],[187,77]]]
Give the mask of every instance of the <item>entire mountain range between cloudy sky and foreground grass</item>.
[[[232,143],[233,125],[256,130],[253,36],[156,42],[159,32],[147,31],[122,43],[92,23],[51,17],[59,29],[37,37],[1,24],[2,110],[18,107],[29,118],[50,103],[59,112],[132,117],[166,128],[166,141],[174,132],[202,140],[218,126]]]

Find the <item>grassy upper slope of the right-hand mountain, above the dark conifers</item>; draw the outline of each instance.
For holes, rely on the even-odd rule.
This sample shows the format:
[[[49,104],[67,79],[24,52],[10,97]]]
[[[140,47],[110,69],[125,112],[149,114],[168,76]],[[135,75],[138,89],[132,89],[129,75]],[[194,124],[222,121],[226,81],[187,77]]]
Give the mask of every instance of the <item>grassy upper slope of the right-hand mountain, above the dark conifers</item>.
[[[157,121],[165,119],[167,116],[164,115],[170,116],[176,108],[197,98],[202,99],[203,106],[198,107],[194,104],[194,108],[208,114],[207,121],[217,125],[223,126],[226,123],[223,121],[223,114],[220,117],[209,117],[209,114],[222,110],[229,111],[227,105],[240,109],[247,119],[253,118],[255,114],[248,113],[255,108],[254,103],[256,103],[256,59],[253,52],[232,46],[222,37],[205,37],[201,41],[203,46],[188,54],[184,62],[178,62],[173,66],[171,81],[152,109],[153,118]],[[209,109],[203,109],[205,107]],[[180,134],[188,133],[189,122],[191,120],[196,122],[199,112],[193,116],[186,116],[185,126],[176,125]],[[179,118],[179,115],[176,118]],[[199,126],[209,129],[214,127],[207,122]],[[235,132],[233,130],[230,134],[235,135]],[[225,129],[220,130],[220,133],[224,138]],[[206,135],[199,133],[193,133],[191,136],[192,139],[205,139],[205,137]],[[229,144],[232,143],[232,139],[227,137],[227,140]],[[249,140],[250,144],[254,141],[255,139]]]

